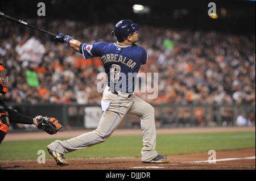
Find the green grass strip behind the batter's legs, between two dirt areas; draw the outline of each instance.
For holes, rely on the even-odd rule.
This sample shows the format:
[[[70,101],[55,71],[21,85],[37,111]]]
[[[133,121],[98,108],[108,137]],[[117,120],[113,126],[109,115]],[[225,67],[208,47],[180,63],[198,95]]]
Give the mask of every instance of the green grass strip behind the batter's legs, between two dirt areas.
[[[50,159],[52,157],[46,146],[55,140],[3,141],[0,145],[0,161],[36,160],[39,157],[38,150],[46,151],[46,159]],[[65,158],[141,157],[142,147],[142,136],[110,136],[102,144],[65,154]],[[156,137],[156,150],[165,156],[245,148],[255,148],[255,132],[159,134]]]

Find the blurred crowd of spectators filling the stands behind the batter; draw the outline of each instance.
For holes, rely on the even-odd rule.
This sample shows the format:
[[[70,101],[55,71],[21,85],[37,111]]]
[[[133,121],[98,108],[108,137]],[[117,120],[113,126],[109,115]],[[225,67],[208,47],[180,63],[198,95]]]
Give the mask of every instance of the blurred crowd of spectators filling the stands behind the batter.
[[[30,19],[28,23],[50,32],[64,32],[82,43],[115,42],[114,24],[71,20]],[[45,48],[42,62],[20,60],[18,50],[35,37]],[[100,58],[84,60],[65,44],[31,28],[0,22],[0,62],[9,75],[9,93],[1,98],[12,103],[100,103],[97,74],[104,72]],[[169,43],[169,45],[167,44]],[[142,73],[159,73],[158,97],[137,95],[149,103],[255,104],[255,34],[173,30],[141,26],[139,42],[147,50]],[[171,45],[171,46],[170,46]],[[26,71],[35,71],[39,86],[29,86]],[[152,86],[156,86],[153,84]]]

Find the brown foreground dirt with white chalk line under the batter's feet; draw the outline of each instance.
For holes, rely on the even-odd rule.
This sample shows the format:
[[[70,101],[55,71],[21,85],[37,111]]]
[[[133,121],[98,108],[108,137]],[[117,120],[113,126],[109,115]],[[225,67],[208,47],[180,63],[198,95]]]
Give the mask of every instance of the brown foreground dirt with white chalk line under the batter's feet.
[[[165,164],[141,163],[140,158],[106,158],[68,159],[68,166],[57,166],[53,159],[40,164],[36,160],[1,161],[0,165],[8,170],[255,170],[255,148],[216,151],[216,163],[209,163],[208,157],[208,153],[171,155],[170,163]]]

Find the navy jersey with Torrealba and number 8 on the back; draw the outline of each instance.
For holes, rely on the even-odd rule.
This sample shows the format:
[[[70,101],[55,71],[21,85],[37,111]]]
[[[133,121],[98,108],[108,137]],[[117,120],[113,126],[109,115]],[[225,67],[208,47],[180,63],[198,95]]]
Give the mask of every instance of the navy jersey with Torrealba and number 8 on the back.
[[[112,91],[133,92],[135,76],[142,64],[147,63],[147,52],[137,45],[119,46],[116,43],[98,42],[81,44],[80,52],[85,59],[100,57],[108,75]]]

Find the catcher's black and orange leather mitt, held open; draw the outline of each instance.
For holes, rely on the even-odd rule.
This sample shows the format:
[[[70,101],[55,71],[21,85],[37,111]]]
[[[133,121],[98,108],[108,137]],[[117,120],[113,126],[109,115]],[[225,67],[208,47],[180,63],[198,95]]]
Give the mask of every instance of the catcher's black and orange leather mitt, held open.
[[[35,119],[38,121],[38,128],[48,134],[56,134],[58,131],[62,131],[60,130],[62,125],[54,117],[36,116]]]

